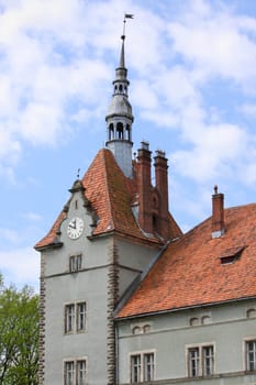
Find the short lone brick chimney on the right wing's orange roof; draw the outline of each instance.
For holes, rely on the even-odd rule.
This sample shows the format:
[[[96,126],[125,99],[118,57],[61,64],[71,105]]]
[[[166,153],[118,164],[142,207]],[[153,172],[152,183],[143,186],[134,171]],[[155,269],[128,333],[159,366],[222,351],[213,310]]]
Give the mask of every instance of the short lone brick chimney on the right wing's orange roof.
[[[219,194],[218,186],[214,186],[212,196],[212,238],[220,238],[224,232],[224,194]]]

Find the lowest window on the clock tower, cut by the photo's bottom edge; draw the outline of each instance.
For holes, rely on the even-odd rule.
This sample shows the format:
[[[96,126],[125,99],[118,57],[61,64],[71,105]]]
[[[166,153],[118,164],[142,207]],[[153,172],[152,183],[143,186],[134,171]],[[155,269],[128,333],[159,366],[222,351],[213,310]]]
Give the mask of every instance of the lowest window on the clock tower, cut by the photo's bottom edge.
[[[64,363],[64,384],[85,385],[86,384],[86,360],[66,361]]]

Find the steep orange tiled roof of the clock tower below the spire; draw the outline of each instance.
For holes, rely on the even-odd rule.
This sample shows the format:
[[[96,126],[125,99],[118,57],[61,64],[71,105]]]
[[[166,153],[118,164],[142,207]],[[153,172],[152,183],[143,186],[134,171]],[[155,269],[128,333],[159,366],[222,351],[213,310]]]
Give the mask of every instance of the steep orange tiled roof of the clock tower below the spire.
[[[93,235],[115,230],[125,235],[160,243],[157,238],[148,238],[140,229],[131,209],[136,194],[136,180],[124,176],[111,151],[102,148],[98,152],[82,178],[82,185],[86,197],[99,218]],[[56,232],[65,217],[66,213],[63,211],[48,234],[35,245],[35,249],[56,242]],[[169,227],[172,238],[180,237],[180,229],[171,215]]]

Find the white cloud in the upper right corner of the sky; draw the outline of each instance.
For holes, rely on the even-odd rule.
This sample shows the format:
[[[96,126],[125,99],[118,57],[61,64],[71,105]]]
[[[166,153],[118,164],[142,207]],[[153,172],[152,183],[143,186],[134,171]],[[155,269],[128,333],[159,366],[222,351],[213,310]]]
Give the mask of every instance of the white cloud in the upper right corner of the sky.
[[[168,25],[174,50],[210,77],[232,78],[247,88],[256,76],[256,44],[248,33],[252,20],[223,8],[198,12],[199,2],[190,3],[189,15]]]

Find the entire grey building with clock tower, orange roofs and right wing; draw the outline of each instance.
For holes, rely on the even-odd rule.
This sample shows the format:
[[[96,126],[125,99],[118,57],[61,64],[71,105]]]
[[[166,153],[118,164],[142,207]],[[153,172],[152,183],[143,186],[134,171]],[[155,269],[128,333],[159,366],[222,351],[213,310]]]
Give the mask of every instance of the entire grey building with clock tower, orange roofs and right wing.
[[[168,208],[168,164],[132,158],[125,36],[108,136],[41,253],[41,385],[256,384],[256,205],[186,234]]]

